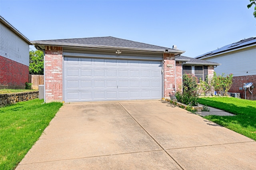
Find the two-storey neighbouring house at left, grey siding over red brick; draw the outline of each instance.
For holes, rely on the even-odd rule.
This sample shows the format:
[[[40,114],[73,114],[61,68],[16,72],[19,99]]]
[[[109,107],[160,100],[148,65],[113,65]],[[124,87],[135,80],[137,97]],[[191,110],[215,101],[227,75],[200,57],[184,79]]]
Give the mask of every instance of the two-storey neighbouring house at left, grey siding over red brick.
[[[0,88],[25,88],[29,45],[29,40],[0,16]]]

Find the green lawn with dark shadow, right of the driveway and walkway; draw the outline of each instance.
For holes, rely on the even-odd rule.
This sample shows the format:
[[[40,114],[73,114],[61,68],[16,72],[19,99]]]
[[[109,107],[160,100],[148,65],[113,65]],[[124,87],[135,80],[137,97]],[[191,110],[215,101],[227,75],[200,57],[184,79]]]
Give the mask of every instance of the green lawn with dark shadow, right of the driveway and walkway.
[[[256,140],[256,101],[234,97],[203,97],[198,102],[236,115],[209,115],[205,119]]]

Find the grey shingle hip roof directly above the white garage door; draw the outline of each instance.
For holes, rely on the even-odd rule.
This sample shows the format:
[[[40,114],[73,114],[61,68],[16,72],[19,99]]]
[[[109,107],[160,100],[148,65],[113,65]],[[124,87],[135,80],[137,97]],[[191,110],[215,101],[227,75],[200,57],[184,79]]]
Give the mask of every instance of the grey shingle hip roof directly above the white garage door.
[[[93,37],[93,38],[71,38],[59,40],[40,40],[40,42],[58,42],[58,43],[74,43],[86,45],[102,45],[110,47],[128,47],[128,48],[145,48],[145,49],[172,49],[168,47],[161,47],[147,43],[134,42],[115,37]],[[172,49],[173,50],[173,49]]]

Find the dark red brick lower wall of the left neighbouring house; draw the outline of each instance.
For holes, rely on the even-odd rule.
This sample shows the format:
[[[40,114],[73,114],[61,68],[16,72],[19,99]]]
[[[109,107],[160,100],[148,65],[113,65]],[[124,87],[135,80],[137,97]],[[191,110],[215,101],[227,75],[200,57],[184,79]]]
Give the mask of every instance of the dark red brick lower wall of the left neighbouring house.
[[[28,66],[0,56],[0,85],[9,88],[25,88],[28,82]]]

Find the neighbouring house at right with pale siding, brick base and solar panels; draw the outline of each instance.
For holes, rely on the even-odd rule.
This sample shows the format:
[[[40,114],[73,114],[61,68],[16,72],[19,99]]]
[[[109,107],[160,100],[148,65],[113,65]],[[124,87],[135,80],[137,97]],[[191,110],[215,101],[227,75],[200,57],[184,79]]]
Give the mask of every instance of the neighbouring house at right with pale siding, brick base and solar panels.
[[[215,72],[219,75],[232,73],[233,84],[229,92],[240,93],[243,99],[244,83],[252,82],[254,87],[256,85],[256,37],[225,45],[195,58],[221,63],[214,69]],[[251,93],[246,90],[246,98],[248,97],[251,99]],[[253,100],[255,99],[256,93],[253,93]]]

